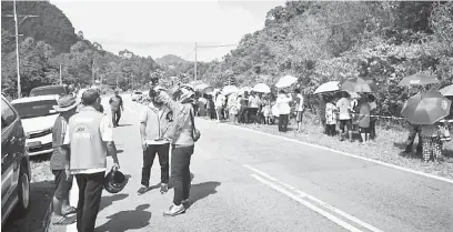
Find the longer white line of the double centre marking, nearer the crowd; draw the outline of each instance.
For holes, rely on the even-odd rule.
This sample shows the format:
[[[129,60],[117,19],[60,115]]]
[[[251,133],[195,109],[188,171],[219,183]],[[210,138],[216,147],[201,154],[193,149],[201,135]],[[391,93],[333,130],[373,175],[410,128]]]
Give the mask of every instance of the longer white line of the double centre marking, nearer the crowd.
[[[350,215],[350,214],[348,214],[348,213],[345,213],[345,212],[343,212],[343,211],[336,209],[335,206],[333,206],[333,205],[331,205],[331,204],[328,204],[328,203],[325,203],[325,202],[323,202],[323,201],[321,201],[321,200],[314,198],[313,195],[310,195],[309,193],[302,192],[301,190],[298,190],[298,189],[295,189],[294,186],[291,186],[290,184],[283,183],[283,182],[276,180],[275,178],[273,178],[273,176],[271,176],[271,175],[269,175],[269,174],[266,174],[266,173],[264,173],[264,172],[262,172],[262,171],[260,171],[260,170],[258,170],[258,169],[252,168],[251,165],[243,164],[243,167],[245,167],[245,168],[252,170],[253,172],[256,172],[258,174],[260,174],[260,175],[262,175],[262,176],[264,176],[264,178],[266,178],[266,179],[269,179],[269,180],[271,180],[271,181],[273,181],[273,182],[275,182],[275,183],[279,183],[279,184],[285,186],[286,189],[289,189],[289,190],[291,190],[291,191],[298,193],[298,195],[299,195],[300,198],[306,198],[306,199],[309,199],[309,200],[312,200],[312,201],[319,203],[320,205],[326,208],[328,210],[330,210],[330,211],[332,211],[332,212],[335,212],[335,213],[340,214],[341,216],[344,216],[344,218],[346,218],[348,220],[353,221],[353,222],[360,224],[360,225],[363,226],[363,228],[366,228],[366,229],[370,230],[370,231],[373,231],[373,232],[383,232],[382,230],[380,230],[380,229],[378,229],[378,228],[375,228],[375,226],[373,226],[373,225],[371,225],[371,224],[369,224],[369,223],[366,223],[366,222],[363,222],[363,221],[361,221],[360,219],[358,219],[358,218],[355,218],[355,216],[353,216],[353,215]]]

